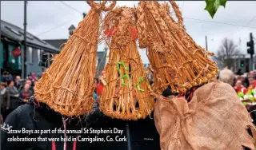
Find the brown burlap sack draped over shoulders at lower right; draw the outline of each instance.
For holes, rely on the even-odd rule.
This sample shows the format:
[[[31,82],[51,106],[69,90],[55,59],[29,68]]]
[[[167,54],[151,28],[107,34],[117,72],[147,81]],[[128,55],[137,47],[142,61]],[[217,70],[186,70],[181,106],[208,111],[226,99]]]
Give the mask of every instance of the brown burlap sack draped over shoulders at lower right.
[[[154,107],[155,125],[162,150],[255,149],[246,128],[251,128],[246,108],[234,89],[220,81],[203,85],[190,103],[184,98],[158,100]]]

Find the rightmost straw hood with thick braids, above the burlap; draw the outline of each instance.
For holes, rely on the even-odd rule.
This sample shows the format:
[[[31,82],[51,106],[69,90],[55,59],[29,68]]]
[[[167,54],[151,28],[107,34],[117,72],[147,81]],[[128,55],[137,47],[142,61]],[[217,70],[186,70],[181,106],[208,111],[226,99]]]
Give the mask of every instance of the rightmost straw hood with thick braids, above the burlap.
[[[140,48],[148,50],[154,71],[154,90],[162,93],[168,85],[175,92],[185,92],[202,85],[218,73],[216,62],[186,33],[182,14],[171,1],[178,22],[170,16],[170,6],[155,1],[139,2],[138,38]]]

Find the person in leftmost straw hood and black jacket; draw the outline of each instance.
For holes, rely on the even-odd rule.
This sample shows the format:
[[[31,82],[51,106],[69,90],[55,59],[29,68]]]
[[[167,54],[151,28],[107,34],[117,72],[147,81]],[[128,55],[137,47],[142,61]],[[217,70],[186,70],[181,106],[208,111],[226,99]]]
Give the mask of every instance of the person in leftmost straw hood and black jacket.
[[[83,134],[81,128],[89,128],[89,124],[86,124],[88,119],[83,116],[93,108],[94,64],[101,12],[112,10],[116,2],[110,6],[106,6],[106,1],[87,3],[91,10],[35,85],[35,99],[30,104],[18,107],[6,118],[1,130],[2,150],[95,150],[90,141],[79,140],[97,136],[96,133]],[[22,131],[22,128],[33,133],[10,132]],[[66,132],[57,132],[58,129]],[[13,137],[23,142],[17,139],[10,142],[9,138]],[[49,138],[58,138],[59,141],[47,140]],[[61,138],[72,140],[63,141]]]

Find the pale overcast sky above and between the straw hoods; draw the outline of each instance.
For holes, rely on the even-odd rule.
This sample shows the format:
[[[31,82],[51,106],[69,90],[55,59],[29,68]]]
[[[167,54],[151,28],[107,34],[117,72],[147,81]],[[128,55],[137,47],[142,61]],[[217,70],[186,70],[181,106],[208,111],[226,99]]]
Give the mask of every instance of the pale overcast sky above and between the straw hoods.
[[[256,1],[227,1],[226,8],[219,7],[214,18],[204,8],[204,1],[177,1],[186,31],[198,45],[217,53],[223,38],[234,40],[246,53],[249,34],[256,38]],[[138,1],[118,1],[117,6],[138,5]],[[85,1],[29,1],[27,5],[27,31],[41,39],[66,39],[68,28],[78,26],[82,13],[90,10]],[[1,1],[1,19],[23,29],[24,2]],[[241,41],[239,40],[241,39]],[[239,42],[240,41],[240,42]],[[103,49],[99,45],[98,49]],[[148,63],[144,49],[139,49],[142,61]]]

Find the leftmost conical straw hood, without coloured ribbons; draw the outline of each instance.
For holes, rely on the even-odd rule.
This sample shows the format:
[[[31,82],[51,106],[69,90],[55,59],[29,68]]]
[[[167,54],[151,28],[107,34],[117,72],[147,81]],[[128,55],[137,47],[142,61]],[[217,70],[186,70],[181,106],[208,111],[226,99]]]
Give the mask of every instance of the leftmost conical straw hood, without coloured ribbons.
[[[100,15],[116,4],[87,3],[92,9],[35,85],[37,100],[64,116],[80,116],[93,109]]]

